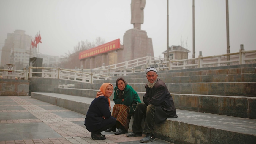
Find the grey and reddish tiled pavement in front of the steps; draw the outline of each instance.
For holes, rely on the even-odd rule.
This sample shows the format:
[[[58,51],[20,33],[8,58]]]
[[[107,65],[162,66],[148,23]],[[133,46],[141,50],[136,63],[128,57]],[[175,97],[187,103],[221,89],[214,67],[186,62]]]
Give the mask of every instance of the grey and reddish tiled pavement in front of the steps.
[[[85,115],[31,96],[0,96],[0,144],[124,144],[140,143],[142,137],[102,132],[105,140],[91,139],[84,126]],[[170,144],[156,139],[150,144]]]

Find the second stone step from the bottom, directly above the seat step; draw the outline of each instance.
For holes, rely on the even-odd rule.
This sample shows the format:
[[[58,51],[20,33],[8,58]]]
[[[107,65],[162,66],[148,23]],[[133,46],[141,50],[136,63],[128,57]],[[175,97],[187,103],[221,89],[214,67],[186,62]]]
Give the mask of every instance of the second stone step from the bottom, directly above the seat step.
[[[99,90],[54,88],[54,93],[95,98]],[[141,102],[145,92],[137,92]],[[256,97],[173,94],[175,107],[181,110],[256,119]],[[114,93],[110,96],[113,100]]]

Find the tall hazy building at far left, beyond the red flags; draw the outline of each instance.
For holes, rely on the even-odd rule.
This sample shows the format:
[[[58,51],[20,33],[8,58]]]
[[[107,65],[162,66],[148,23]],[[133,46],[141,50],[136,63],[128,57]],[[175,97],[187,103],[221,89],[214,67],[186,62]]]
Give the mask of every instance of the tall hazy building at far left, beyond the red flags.
[[[32,37],[23,30],[15,30],[8,33],[4,41],[1,55],[1,66],[6,64],[18,64],[26,67],[29,60],[29,49]],[[19,69],[19,67],[17,67]]]

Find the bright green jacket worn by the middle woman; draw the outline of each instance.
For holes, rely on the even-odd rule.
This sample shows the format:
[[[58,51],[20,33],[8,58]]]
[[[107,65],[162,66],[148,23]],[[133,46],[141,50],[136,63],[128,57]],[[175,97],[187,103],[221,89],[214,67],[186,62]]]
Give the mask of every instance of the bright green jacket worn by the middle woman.
[[[120,89],[118,89],[118,87],[115,87],[115,93],[114,93],[114,102],[115,104],[124,104],[124,105],[132,105],[132,104],[136,104],[141,103],[140,98],[137,94],[137,92],[128,84],[125,86],[124,88],[124,94],[122,96],[122,98],[119,98],[119,96],[117,95],[117,93],[120,91]],[[124,101],[122,102],[122,99],[124,99]]]

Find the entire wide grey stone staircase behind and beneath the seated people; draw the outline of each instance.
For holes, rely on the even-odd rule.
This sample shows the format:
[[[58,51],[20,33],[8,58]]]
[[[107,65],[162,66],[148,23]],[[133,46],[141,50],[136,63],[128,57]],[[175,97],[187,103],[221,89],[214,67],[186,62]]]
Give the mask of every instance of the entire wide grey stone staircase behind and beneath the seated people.
[[[256,64],[158,71],[173,97],[178,118],[156,125],[155,136],[171,143],[256,143]],[[143,102],[146,73],[123,76]],[[32,92],[31,97],[86,114],[102,83]],[[113,100],[113,94],[110,97]],[[114,102],[111,101],[113,107]],[[131,119],[129,129],[132,128]]]

